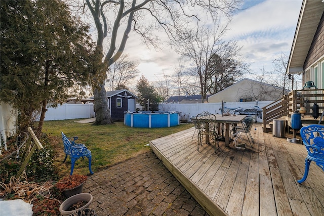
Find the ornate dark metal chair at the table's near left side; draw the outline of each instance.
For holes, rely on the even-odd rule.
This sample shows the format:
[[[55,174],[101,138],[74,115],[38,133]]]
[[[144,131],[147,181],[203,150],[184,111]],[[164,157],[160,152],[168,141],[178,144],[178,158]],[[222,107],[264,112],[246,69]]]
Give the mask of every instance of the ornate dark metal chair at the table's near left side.
[[[199,151],[199,146],[203,145],[203,137],[209,136],[210,140],[212,140],[212,143],[215,147],[215,153],[216,153],[216,145],[219,147],[218,142],[218,129],[217,129],[217,123],[216,123],[216,116],[214,114],[211,114],[210,112],[203,112],[196,116],[196,129],[198,132],[198,144],[197,144],[197,151]]]

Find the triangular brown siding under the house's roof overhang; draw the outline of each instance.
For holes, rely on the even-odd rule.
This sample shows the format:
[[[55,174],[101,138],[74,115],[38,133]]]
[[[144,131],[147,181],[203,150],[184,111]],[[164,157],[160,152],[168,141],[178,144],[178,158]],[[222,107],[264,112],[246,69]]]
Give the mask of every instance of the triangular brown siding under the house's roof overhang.
[[[324,13],[322,14],[313,41],[309,48],[306,60],[304,62],[304,70],[312,66],[318,59],[324,55]]]

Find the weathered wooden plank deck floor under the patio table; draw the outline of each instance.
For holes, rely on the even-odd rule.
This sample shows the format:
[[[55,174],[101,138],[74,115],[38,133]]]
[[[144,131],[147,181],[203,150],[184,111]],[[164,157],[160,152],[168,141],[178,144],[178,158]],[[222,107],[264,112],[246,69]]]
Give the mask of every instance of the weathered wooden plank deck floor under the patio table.
[[[322,169],[312,162],[307,180],[297,183],[305,168],[302,144],[263,133],[261,124],[254,124],[253,148],[248,144],[240,151],[220,142],[216,154],[208,144],[198,152],[196,136],[191,140],[194,130],[150,146],[210,215],[324,215]]]

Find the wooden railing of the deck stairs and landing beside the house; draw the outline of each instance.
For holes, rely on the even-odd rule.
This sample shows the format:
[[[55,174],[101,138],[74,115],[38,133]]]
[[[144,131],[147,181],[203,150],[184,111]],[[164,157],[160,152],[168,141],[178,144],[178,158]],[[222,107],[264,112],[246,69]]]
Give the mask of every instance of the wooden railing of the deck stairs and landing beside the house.
[[[324,89],[293,90],[288,95],[282,96],[280,99],[262,108],[263,132],[267,132],[266,126],[273,119],[284,116],[290,118],[294,111],[299,111],[300,107],[306,108],[304,116],[312,117],[312,107],[315,103],[318,105],[318,118],[320,118],[321,113],[324,111]]]

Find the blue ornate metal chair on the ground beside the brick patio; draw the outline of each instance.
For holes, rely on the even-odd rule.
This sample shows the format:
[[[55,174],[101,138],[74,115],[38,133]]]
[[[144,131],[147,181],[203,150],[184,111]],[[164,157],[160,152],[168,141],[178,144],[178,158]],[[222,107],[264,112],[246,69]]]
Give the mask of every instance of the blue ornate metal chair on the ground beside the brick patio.
[[[62,140],[63,140],[63,144],[64,144],[64,153],[65,153],[65,158],[63,160],[63,163],[65,162],[67,155],[70,155],[71,157],[71,172],[70,175],[72,175],[73,173],[73,169],[74,169],[74,163],[75,161],[82,157],[84,158],[85,156],[88,157],[89,159],[89,171],[90,174],[92,175],[94,172],[91,170],[91,151],[84,145],[84,144],[77,144],[74,141],[77,140],[77,137],[72,137],[72,138],[68,138],[65,136],[65,134],[63,132],[62,133]]]

